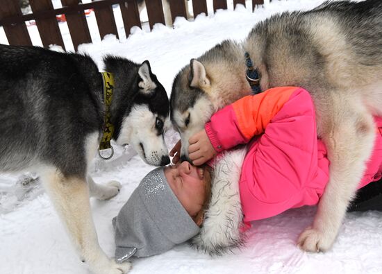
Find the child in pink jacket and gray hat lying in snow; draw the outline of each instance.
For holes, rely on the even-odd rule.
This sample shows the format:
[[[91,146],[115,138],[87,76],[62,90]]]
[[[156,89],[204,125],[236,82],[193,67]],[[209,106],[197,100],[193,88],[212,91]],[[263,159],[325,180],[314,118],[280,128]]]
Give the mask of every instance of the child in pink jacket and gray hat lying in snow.
[[[381,178],[382,118],[375,122],[374,151],[359,187]],[[244,224],[316,205],[329,179],[313,101],[299,87],[276,87],[228,105],[190,144],[194,164],[221,153],[208,163],[212,172],[188,162],[151,171],[114,220],[118,262],[192,237],[198,248],[223,252],[242,242]],[[247,146],[229,151],[240,144]],[[178,152],[179,144],[170,154]]]

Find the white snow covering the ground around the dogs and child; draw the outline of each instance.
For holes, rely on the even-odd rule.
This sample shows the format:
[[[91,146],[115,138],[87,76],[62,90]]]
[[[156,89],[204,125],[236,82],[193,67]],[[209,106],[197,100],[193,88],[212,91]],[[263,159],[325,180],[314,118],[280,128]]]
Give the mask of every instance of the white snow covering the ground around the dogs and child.
[[[226,38],[244,39],[256,22],[275,12],[306,10],[319,3],[322,0],[265,1],[254,13],[249,5],[247,9],[241,6],[235,11],[220,10],[215,15],[209,12],[208,17],[201,15],[194,22],[178,18],[174,29],[159,24],[151,33],[147,28],[144,31],[133,28],[128,39],[120,35],[118,41],[110,35],[103,41],[81,45],[79,51],[90,54],[100,69],[106,53],[135,62],[150,60],[153,72],[170,94],[175,74],[191,58]],[[88,20],[92,22],[94,18]],[[65,24],[60,24],[60,28],[65,31]],[[0,42],[6,43],[2,31]],[[167,132],[169,148],[176,140],[174,131]],[[115,248],[111,220],[151,169],[153,166],[144,164],[131,148],[117,148],[115,157],[109,161],[94,160],[90,169],[94,180],[119,180],[123,185],[120,194],[111,200],[92,200],[99,242],[110,257]],[[63,225],[38,180],[23,185],[20,175],[0,175],[0,273],[88,273],[74,255]],[[256,221],[247,232],[247,244],[222,257],[209,257],[182,244],[163,255],[133,259],[131,273],[382,273],[381,212],[348,214],[333,249],[325,254],[310,254],[299,250],[295,242],[313,220],[314,213],[315,207],[304,207]]]

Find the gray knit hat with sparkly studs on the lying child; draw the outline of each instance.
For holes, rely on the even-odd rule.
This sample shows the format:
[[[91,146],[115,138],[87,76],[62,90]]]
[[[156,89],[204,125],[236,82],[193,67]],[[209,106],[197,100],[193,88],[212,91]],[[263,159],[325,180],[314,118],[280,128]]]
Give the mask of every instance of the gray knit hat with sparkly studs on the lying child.
[[[142,179],[113,219],[113,226],[118,263],[133,255],[147,257],[165,252],[200,230],[169,187],[163,167]]]

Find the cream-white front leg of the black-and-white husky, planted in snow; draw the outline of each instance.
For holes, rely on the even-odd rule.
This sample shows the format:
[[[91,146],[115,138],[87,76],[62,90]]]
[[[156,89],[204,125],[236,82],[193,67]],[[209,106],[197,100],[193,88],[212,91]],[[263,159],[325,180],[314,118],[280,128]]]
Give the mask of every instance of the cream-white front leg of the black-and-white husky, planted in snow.
[[[51,170],[42,175],[42,181],[81,260],[88,264],[92,273],[127,273],[131,268],[129,263],[117,264],[113,259],[108,259],[99,247],[86,180],[75,176],[65,178],[59,171]]]

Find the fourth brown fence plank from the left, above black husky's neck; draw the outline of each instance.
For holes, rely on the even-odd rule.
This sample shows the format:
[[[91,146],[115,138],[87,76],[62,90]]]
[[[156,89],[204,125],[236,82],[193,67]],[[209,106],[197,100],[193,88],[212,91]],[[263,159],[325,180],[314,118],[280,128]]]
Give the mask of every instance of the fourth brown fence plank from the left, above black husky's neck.
[[[94,8],[94,14],[97,20],[97,26],[101,40],[105,35],[114,34],[118,38],[117,26],[115,24],[113,7],[106,6],[101,8]]]

